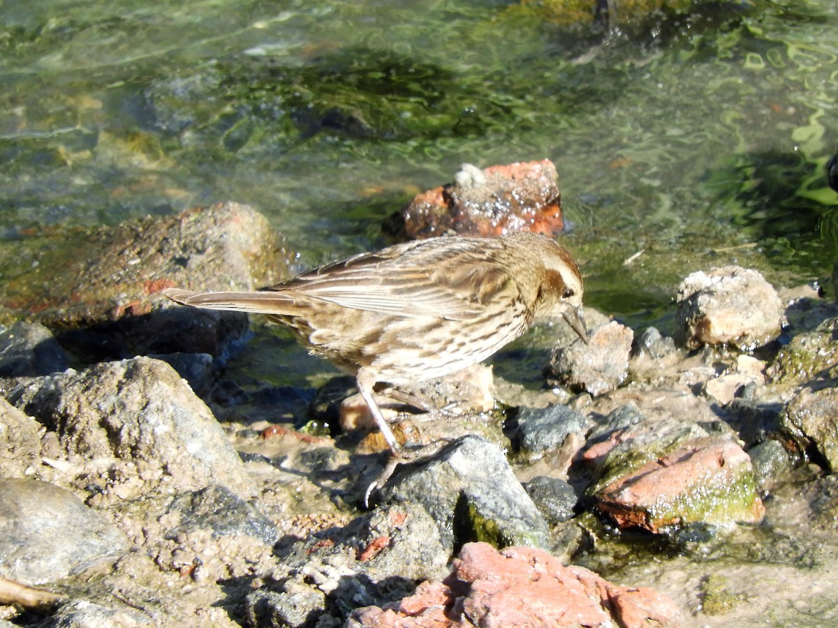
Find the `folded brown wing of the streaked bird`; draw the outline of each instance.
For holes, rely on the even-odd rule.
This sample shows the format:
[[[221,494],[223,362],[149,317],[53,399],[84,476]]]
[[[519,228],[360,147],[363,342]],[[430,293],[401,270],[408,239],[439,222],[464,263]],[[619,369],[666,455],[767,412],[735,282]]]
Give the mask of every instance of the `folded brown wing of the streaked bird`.
[[[458,240],[447,246],[424,240],[357,255],[265,290],[403,317],[473,319],[499,292],[514,289],[514,281],[485,256],[493,240]]]

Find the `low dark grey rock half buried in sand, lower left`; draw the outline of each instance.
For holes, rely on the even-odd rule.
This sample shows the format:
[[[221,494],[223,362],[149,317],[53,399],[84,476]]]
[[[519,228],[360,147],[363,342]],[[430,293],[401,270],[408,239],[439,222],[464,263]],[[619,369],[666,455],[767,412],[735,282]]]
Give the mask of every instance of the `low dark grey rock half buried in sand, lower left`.
[[[224,486],[207,486],[175,497],[168,512],[177,513],[180,522],[166,533],[166,538],[175,538],[184,531],[209,529],[215,538],[246,534],[272,545],[280,536],[270,519]]]

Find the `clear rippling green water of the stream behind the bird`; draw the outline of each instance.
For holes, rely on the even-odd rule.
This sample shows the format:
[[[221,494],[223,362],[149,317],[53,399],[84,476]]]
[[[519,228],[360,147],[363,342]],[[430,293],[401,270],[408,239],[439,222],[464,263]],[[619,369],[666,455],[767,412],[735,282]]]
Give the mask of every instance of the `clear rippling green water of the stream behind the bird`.
[[[838,4],[695,5],[603,34],[489,0],[6,0],[0,236],[232,199],[315,265],[462,162],[549,157],[609,314],[729,262],[824,281]]]

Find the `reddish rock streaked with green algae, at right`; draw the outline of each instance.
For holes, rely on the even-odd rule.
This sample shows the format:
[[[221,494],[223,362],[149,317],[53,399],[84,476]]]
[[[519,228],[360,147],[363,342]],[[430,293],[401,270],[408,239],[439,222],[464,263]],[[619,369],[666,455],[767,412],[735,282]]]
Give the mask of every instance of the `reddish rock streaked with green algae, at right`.
[[[621,528],[662,533],[764,516],[750,458],[727,436],[689,420],[647,419],[628,405],[609,414],[589,442],[582,459],[598,480],[587,493]]]

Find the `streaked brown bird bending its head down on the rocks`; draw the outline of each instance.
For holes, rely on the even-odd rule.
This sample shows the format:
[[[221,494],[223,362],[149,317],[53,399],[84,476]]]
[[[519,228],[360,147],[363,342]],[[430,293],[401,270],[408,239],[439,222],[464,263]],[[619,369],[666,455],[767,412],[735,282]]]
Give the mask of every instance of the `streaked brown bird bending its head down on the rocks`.
[[[357,378],[394,454],[375,402],[396,389],[483,361],[536,318],[561,316],[587,342],[582,276],[552,239],[443,237],[364,253],[255,292],[164,290],[186,306],[252,311],[291,327],[311,353]]]

